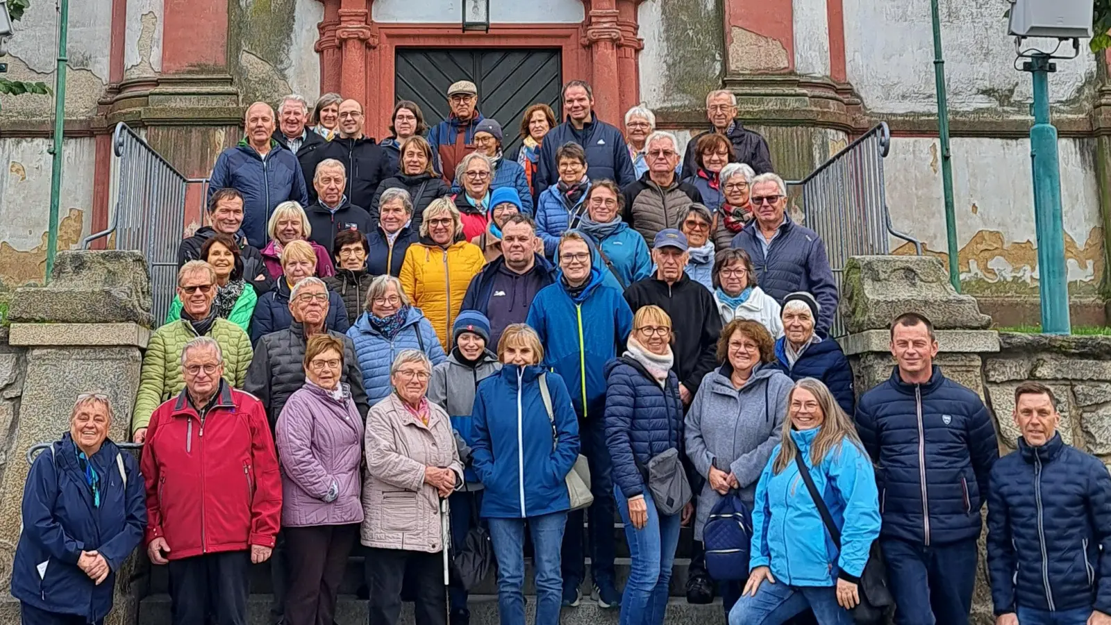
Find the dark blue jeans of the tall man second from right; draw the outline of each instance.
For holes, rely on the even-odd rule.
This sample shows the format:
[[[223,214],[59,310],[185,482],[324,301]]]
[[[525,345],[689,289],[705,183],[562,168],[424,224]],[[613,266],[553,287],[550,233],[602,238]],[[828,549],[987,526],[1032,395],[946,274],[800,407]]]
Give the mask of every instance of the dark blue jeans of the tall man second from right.
[[[929,547],[882,538],[895,625],[968,625],[979,557],[975,539]]]

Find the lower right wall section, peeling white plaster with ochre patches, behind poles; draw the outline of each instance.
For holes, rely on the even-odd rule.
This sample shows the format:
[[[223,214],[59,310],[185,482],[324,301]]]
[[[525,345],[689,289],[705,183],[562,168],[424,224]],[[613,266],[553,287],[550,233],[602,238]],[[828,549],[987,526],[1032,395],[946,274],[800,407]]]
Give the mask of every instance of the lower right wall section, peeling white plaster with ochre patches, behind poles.
[[[945,218],[935,139],[893,139],[884,160],[897,230],[919,238],[944,262]],[[952,140],[953,195],[961,279],[984,295],[1035,292],[1037,244],[1030,143],[1025,139]],[[1094,295],[1103,271],[1093,139],[1061,139],[1061,205],[1070,289]],[[892,247],[902,241],[892,239]],[[898,252],[911,254],[908,245]]]

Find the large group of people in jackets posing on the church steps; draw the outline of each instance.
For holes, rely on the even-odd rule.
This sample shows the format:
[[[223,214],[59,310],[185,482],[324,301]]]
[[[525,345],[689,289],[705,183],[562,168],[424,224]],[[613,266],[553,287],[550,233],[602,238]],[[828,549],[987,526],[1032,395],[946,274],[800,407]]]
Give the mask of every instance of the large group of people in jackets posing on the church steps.
[[[407,595],[418,625],[466,625],[467,584],[446,585],[444,563],[484,532],[504,625],[524,622],[527,543],[538,625],[579,605],[588,556],[600,607],[660,625],[693,525],[688,601],[720,594],[731,625],[852,623],[870,557],[897,623],[959,625],[984,500],[1000,625],[1109,619],[1111,477],[1055,434],[1052,391],[1017,389],[1020,450],[997,463],[983,403],[908,312],[890,379],[858,399],[829,336],[824,245],[784,214],[731,93],[707,98],[712,129],[682,161],[647,109],[623,137],[598,120],[581,81],[564,123],[530,108],[517,158],[472,83],[448,103],[428,129],[399,102],[381,143],[338,96],[312,120],[286,98],[278,130],[269,106],[248,109],[143,357],[141,462],[107,439],[93,394],[31,468],[24,623],[99,623],[141,544],[169,568],[174,625],[244,623],[248,567],[268,559],[272,621],[330,625],[358,544],[372,625],[396,625]],[[705,569],[727,497],[751,513],[747,579]]]

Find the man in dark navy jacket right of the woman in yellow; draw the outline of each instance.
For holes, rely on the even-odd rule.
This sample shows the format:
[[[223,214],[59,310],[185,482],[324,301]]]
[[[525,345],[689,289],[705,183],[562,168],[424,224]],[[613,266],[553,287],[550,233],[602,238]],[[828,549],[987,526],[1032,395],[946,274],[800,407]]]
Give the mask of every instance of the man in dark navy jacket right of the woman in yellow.
[[[501,227],[501,256],[483,267],[467,287],[460,309],[487,316],[489,345],[497,346],[510,324],[523,324],[532,299],[556,281],[556,267],[537,251],[537,225],[529,216],[510,215]]]

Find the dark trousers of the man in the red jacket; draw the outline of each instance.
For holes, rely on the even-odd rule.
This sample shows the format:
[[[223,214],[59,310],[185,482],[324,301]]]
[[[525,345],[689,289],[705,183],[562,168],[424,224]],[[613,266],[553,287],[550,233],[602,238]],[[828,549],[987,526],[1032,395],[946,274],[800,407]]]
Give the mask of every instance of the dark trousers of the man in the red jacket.
[[[247,625],[250,552],[206,554],[167,566],[173,625],[198,625],[207,615],[218,625]]]

